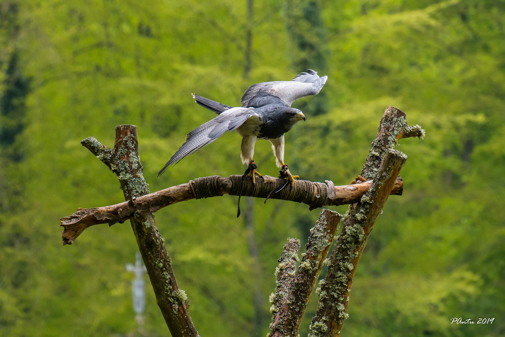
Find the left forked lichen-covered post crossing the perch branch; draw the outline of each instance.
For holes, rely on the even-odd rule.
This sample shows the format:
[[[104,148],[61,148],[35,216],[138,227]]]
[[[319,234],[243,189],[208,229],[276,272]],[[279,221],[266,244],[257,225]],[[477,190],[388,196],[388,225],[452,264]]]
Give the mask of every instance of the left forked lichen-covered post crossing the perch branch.
[[[84,139],[82,144],[116,173],[127,200],[124,204],[128,210],[132,210],[129,205],[133,200],[149,193],[138,155],[136,126],[116,127],[114,150],[107,149],[91,137]],[[170,255],[165,249],[164,239],[158,231],[153,213],[135,210],[129,218],[155,291],[156,301],[170,333],[174,337],[198,336],[187,310],[186,294],[177,285]]]

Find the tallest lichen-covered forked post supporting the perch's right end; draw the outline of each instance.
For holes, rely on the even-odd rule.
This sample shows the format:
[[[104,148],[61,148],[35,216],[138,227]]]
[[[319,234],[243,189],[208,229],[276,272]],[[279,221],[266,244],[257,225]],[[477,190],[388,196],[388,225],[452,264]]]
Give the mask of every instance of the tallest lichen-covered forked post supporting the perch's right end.
[[[425,131],[409,126],[406,114],[395,107],[387,107],[381,118],[377,137],[363,165],[361,177],[372,181],[372,187],[353,203],[345,214],[345,221],[337,245],[330,257],[328,272],[317,292],[320,296],[316,316],[309,336],[338,336],[347,317],[347,303],[352,280],[370,231],[386,202],[393,181],[407,157],[392,150],[398,139],[423,138]],[[396,180],[397,181],[397,180]],[[367,181],[368,182],[368,181]]]

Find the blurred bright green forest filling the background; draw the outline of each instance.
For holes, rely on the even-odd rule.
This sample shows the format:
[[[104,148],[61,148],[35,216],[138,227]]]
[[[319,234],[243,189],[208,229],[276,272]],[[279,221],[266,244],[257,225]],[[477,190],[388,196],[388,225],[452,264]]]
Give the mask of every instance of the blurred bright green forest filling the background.
[[[341,335],[504,336],[505,1],[250,3],[252,11],[245,0],[0,2],[0,335],[136,327],[129,222],[93,226],[62,246],[60,217],[124,200],[81,139],[112,147],[115,126],[135,124],[151,191],[241,174],[240,137],[227,133],[157,177],[185,134],[215,116],[190,93],[237,106],[248,85],[312,68],[328,81],[295,102],[307,121],[286,134],[285,161],[300,178],[350,183],[389,105],[426,130],[424,140],[399,141],[405,190],[369,238]],[[261,173],[277,174],[269,142],[257,143],[255,159]],[[319,214],[254,200],[237,219],[236,202],[156,213],[202,336],[266,334],[282,246],[307,240]],[[145,329],[170,335],[151,288]]]

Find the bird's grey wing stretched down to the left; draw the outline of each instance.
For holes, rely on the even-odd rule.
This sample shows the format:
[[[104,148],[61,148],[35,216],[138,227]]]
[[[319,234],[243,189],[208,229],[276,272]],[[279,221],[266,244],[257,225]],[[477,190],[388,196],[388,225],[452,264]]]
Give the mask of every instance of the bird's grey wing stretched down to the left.
[[[188,133],[184,144],[179,148],[179,150],[177,150],[172,158],[170,158],[167,164],[165,164],[158,173],[158,176],[160,176],[160,174],[162,174],[168,167],[177,164],[184,157],[213,142],[222,136],[226,131],[235,130],[254,114],[255,112],[253,109],[231,108],[207,123],[198,126],[196,129]]]

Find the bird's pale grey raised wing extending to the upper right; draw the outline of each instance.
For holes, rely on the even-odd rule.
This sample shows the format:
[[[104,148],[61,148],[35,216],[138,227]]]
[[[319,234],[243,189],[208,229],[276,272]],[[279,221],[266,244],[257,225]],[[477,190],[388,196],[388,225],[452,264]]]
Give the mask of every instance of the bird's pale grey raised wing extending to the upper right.
[[[258,91],[277,96],[290,107],[299,98],[318,94],[327,79],[328,76],[319,77],[316,71],[307,69],[307,72],[299,73],[291,81],[252,84],[242,96],[242,107],[249,106]]]

